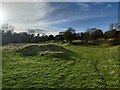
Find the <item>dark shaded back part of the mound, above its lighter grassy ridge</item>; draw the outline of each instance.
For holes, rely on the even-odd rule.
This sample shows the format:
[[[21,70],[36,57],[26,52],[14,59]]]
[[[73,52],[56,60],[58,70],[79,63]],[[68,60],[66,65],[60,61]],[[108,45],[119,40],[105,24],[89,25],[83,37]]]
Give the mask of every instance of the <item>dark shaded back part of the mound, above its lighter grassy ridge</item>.
[[[17,50],[17,53],[21,53],[24,56],[36,56],[40,52],[49,51],[49,52],[67,52],[62,46],[48,44],[48,45],[30,45],[22,49]]]

